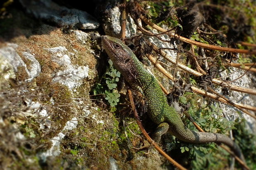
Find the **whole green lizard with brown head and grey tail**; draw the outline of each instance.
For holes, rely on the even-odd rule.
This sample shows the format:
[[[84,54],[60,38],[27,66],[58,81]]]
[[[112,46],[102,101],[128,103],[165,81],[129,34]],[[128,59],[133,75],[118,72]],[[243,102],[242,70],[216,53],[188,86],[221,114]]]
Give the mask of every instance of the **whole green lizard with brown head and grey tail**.
[[[188,129],[176,110],[169,106],[155,77],[149,73],[137,59],[133,51],[117,38],[102,36],[102,45],[113,65],[121,72],[131,86],[140,86],[148,102],[147,114],[158,128],[154,140],[159,142],[161,135],[169,131],[171,135],[184,142],[215,142],[228,145],[234,153],[244,161],[242,151],[229,137],[220,133],[197,132]]]

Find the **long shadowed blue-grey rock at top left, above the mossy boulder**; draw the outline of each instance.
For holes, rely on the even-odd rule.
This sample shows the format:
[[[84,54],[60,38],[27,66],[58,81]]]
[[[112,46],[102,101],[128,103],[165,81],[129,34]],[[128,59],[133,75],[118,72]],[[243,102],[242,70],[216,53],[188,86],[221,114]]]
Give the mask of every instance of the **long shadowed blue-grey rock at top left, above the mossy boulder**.
[[[28,14],[61,28],[77,26],[81,29],[96,29],[100,26],[97,19],[87,12],[59,6],[52,0],[19,0],[19,2]]]

